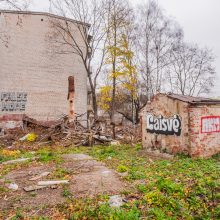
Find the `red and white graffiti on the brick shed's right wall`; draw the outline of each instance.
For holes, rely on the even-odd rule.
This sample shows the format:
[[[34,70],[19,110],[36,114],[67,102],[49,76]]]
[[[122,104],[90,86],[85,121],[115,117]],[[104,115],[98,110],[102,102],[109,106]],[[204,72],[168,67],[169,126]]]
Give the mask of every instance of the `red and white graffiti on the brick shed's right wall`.
[[[207,116],[201,118],[201,133],[220,132],[220,116]]]

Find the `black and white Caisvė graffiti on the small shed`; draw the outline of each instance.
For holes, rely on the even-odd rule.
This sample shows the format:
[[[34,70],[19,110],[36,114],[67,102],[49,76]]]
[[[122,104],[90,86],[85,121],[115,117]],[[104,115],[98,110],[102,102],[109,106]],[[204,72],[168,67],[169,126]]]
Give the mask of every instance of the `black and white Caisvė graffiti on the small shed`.
[[[181,135],[181,120],[179,115],[172,118],[164,118],[162,115],[158,117],[149,114],[147,119],[147,132],[164,135]]]

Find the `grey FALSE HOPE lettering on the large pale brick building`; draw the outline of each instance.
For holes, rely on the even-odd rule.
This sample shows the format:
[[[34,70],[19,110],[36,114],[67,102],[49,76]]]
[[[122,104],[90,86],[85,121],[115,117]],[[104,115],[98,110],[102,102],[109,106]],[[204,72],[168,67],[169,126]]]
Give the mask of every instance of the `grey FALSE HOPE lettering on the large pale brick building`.
[[[25,92],[2,92],[0,97],[0,111],[17,112],[25,111],[27,93]]]

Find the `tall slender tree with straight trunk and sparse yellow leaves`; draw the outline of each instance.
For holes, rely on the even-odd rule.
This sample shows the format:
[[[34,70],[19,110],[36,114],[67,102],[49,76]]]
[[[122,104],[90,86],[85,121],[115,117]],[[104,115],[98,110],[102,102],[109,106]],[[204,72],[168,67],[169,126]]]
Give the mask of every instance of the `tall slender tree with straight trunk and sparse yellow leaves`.
[[[117,84],[122,76],[120,42],[123,34],[129,26],[129,15],[131,13],[128,2],[109,0],[106,5],[106,30],[107,30],[107,52],[105,63],[108,65],[108,78],[111,79],[111,104],[110,118],[113,137],[115,138],[115,113]]]

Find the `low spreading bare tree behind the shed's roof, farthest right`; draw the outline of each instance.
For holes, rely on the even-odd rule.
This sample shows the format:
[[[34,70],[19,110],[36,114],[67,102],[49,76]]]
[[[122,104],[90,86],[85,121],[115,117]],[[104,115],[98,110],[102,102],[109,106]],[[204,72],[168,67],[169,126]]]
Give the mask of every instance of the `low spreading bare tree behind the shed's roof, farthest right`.
[[[212,51],[181,42],[174,46],[171,55],[167,76],[172,92],[190,96],[210,92],[215,77]]]

